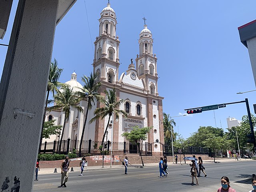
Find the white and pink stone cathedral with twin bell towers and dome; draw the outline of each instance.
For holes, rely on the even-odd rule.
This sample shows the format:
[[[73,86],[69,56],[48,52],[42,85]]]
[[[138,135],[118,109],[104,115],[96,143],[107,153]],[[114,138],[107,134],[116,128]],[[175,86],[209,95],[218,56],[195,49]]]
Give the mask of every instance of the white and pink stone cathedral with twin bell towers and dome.
[[[146,142],[152,144],[153,155],[160,155],[163,150],[161,143],[164,143],[162,110],[162,100],[164,98],[158,95],[157,58],[156,54],[153,54],[152,33],[145,24],[139,34],[139,54],[136,56],[136,63],[134,64],[131,59],[126,72],[121,73],[119,72],[120,40],[116,36],[116,24],[116,13],[108,3],[107,7],[100,13],[99,34],[94,42],[95,52],[92,70],[93,73],[98,75],[98,80],[102,84],[99,93],[104,96],[104,90],[115,88],[118,100],[124,100],[120,110],[124,110],[128,114],[127,118],[120,116],[118,121],[113,121],[110,124],[108,127],[108,140],[121,143],[126,141],[121,136],[122,133],[130,132],[133,126],[138,126],[139,128],[152,126],[153,128],[148,133]],[[82,85],[77,81],[75,72],[66,84],[73,87],[74,91],[79,90],[78,87],[82,88]],[[80,101],[78,105],[86,111],[86,100]],[[90,119],[94,117],[94,110],[102,106],[104,104],[97,102],[89,110],[83,140],[102,140],[108,117],[104,120],[98,119],[92,124],[89,123]],[[64,116],[65,114],[60,110],[47,112],[45,121],[56,120],[56,125],[63,125]],[[71,108],[70,117],[65,122],[63,140],[68,138],[80,140],[84,119],[85,112],[80,113]],[[58,136],[52,135],[48,141],[50,142],[54,139],[58,141]],[[106,141],[107,138],[105,137]]]

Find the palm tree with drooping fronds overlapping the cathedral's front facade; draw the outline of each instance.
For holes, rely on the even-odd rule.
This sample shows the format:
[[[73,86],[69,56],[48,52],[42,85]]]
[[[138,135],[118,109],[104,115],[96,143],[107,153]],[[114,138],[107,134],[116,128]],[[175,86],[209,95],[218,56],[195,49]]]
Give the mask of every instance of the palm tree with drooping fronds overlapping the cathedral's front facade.
[[[118,110],[120,104],[124,102],[123,99],[117,100],[116,98],[116,90],[115,89],[110,89],[109,92],[107,90],[104,90],[104,93],[106,94],[106,98],[99,98],[99,101],[101,103],[104,103],[105,106],[102,108],[96,108],[94,110],[94,115],[95,117],[90,120],[90,123],[94,122],[96,119],[100,118],[103,120],[106,116],[108,116],[108,124],[110,121],[110,117],[114,113],[115,120],[119,118],[119,114],[122,114],[127,118],[127,113],[124,110]],[[104,132],[103,138],[101,145],[103,146],[104,138],[106,135],[106,132],[108,130],[108,124],[106,126],[106,130]]]

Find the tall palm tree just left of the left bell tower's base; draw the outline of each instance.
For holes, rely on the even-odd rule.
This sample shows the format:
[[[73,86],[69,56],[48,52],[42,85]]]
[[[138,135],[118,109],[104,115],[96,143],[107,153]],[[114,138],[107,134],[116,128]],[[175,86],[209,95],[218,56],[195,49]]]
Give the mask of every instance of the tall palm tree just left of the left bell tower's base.
[[[82,148],[82,140],[84,137],[84,130],[85,130],[85,125],[87,121],[87,116],[88,116],[88,110],[92,108],[92,102],[93,105],[95,105],[94,100],[98,100],[101,96],[98,94],[98,89],[101,87],[100,82],[97,82],[97,74],[92,74],[90,73],[90,77],[86,77],[85,75],[82,77],[82,81],[84,82],[83,88],[80,88],[80,98],[87,98],[87,109],[86,109],[86,115],[85,115],[85,120],[84,120],[84,126],[83,126],[83,131],[81,135],[81,140],[80,140],[80,146],[79,146],[79,154],[78,156],[81,157],[81,148]]]

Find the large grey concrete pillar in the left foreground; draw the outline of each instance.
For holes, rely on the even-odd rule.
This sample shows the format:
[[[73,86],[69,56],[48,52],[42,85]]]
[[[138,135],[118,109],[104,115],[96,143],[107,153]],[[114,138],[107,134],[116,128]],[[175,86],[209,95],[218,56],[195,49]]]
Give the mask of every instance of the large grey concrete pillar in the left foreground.
[[[32,191],[57,10],[58,0],[18,3],[0,84],[4,191]]]

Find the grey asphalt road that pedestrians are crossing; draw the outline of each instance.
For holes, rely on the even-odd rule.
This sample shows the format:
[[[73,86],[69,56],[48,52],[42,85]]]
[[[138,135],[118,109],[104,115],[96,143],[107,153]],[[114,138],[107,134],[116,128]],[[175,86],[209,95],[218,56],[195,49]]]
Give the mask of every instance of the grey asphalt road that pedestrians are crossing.
[[[67,188],[58,188],[60,173],[38,175],[33,192],[184,192],[213,191],[221,186],[220,178],[228,176],[230,186],[236,192],[252,190],[251,176],[256,173],[254,161],[204,164],[207,177],[200,177],[199,186],[191,186],[189,165],[169,166],[169,175],[159,178],[158,167],[129,168],[128,175],[122,170],[90,170],[84,176],[80,172],[69,172]],[[204,174],[201,174],[204,175]],[[195,182],[195,181],[194,181]]]

